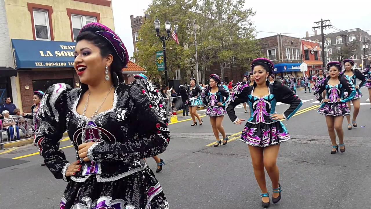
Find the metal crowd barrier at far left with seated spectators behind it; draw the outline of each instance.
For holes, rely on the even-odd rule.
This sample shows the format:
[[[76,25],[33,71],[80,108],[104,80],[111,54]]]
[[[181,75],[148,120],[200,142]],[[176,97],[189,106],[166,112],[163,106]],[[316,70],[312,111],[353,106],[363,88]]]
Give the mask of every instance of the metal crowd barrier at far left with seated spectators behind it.
[[[0,119],[0,145],[30,139],[33,135],[30,119],[14,115],[11,115],[11,118]]]

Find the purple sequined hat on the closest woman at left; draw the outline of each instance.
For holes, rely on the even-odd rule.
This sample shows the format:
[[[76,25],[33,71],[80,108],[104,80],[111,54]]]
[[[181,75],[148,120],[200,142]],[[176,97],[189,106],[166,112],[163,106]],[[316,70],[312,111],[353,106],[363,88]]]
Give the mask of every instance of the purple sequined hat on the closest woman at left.
[[[118,35],[113,30],[109,29],[105,25],[102,25],[101,23],[92,22],[83,26],[79,33],[85,31],[94,32],[105,38],[109,43],[111,43],[118,57],[122,61],[122,66],[127,67],[129,61],[128,51],[126,50],[125,45],[124,43],[122,43],[120,37],[118,37]]]

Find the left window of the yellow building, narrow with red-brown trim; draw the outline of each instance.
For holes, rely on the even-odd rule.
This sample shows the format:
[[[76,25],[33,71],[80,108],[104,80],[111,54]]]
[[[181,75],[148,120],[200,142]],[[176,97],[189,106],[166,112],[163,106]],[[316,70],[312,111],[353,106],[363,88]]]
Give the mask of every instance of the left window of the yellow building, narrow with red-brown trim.
[[[36,40],[50,41],[49,18],[47,11],[33,10]]]

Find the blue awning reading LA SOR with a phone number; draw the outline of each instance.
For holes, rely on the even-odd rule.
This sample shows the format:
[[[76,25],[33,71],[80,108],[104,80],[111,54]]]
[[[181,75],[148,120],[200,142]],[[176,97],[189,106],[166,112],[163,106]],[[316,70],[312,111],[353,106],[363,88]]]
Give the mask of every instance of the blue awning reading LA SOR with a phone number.
[[[12,39],[14,66],[20,68],[73,67],[76,42]]]

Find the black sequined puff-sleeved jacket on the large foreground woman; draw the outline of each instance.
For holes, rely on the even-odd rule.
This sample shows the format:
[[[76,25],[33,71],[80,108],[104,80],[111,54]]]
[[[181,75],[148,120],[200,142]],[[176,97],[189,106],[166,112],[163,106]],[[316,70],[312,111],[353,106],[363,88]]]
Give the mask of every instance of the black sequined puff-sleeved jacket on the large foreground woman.
[[[147,166],[142,160],[165,151],[170,141],[168,119],[162,108],[163,97],[146,80],[132,85],[118,84],[112,109],[95,115],[92,120],[76,112],[81,89],[54,84],[45,92],[37,112],[40,126],[34,145],[57,179],[82,182],[92,175],[97,181],[114,181]],[[67,129],[76,150],[84,142],[95,141],[88,149],[91,161],[82,163],[81,171],[65,177],[69,162],[59,140]]]

